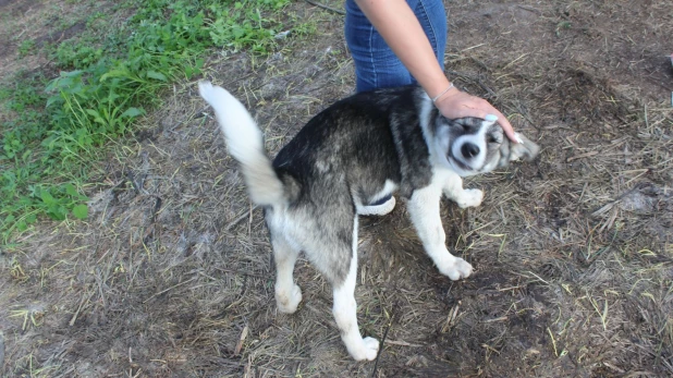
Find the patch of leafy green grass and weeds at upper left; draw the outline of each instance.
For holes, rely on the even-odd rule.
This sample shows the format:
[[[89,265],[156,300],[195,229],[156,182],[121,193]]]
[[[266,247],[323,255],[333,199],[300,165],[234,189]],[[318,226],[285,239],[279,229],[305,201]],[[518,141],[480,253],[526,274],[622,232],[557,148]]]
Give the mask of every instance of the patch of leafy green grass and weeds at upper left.
[[[129,0],[117,31],[100,13],[77,38],[48,48],[58,77],[17,75],[0,87],[9,114],[0,138],[0,236],[4,244],[39,219],[87,217],[83,185],[110,141],[160,105],[171,83],[198,76],[212,48],[273,47],[289,0]],[[284,29],[283,28],[283,29]],[[278,29],[280,31],[280,28]],[[23,41],[20,54],[35,51]]]

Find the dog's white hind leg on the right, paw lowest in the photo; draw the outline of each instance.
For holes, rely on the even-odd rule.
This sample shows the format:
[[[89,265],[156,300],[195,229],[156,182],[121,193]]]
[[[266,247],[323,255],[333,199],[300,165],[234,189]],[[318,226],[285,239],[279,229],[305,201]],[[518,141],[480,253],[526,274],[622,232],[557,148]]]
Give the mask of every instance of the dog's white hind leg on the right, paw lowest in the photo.
[[[346,246],[344,246],[346,247]],[[356,361],[376,358],[379,352],[379,341],[374,338],[364,338],[357,327],[357,304],[355,303],[355,282],[357,277],[357,216],[353,225],[353,242],[350,246],[351,264],[343,280],[332,282],[334,307],[332,313],[341,332],[341,340],[348,353]],[[344,251],[345,252],[345,251]],[[347,255],[346,255],[347,256]]]

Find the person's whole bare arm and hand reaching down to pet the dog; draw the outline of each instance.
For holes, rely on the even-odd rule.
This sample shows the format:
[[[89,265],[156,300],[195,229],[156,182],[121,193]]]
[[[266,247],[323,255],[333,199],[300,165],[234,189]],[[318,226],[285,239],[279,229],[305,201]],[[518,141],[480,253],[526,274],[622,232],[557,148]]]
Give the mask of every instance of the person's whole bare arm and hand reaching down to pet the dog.
[[[517,142],[510,121],[487,100],[450,87],[450,82],[437,62],[430,41],[418,19],[404,0],[355,0],[371,25],[400,58],[435,105],[449,119],[488,114],[498,117],[498,123],[513,142]],[[443,57],[440,57],[443,59]]]

